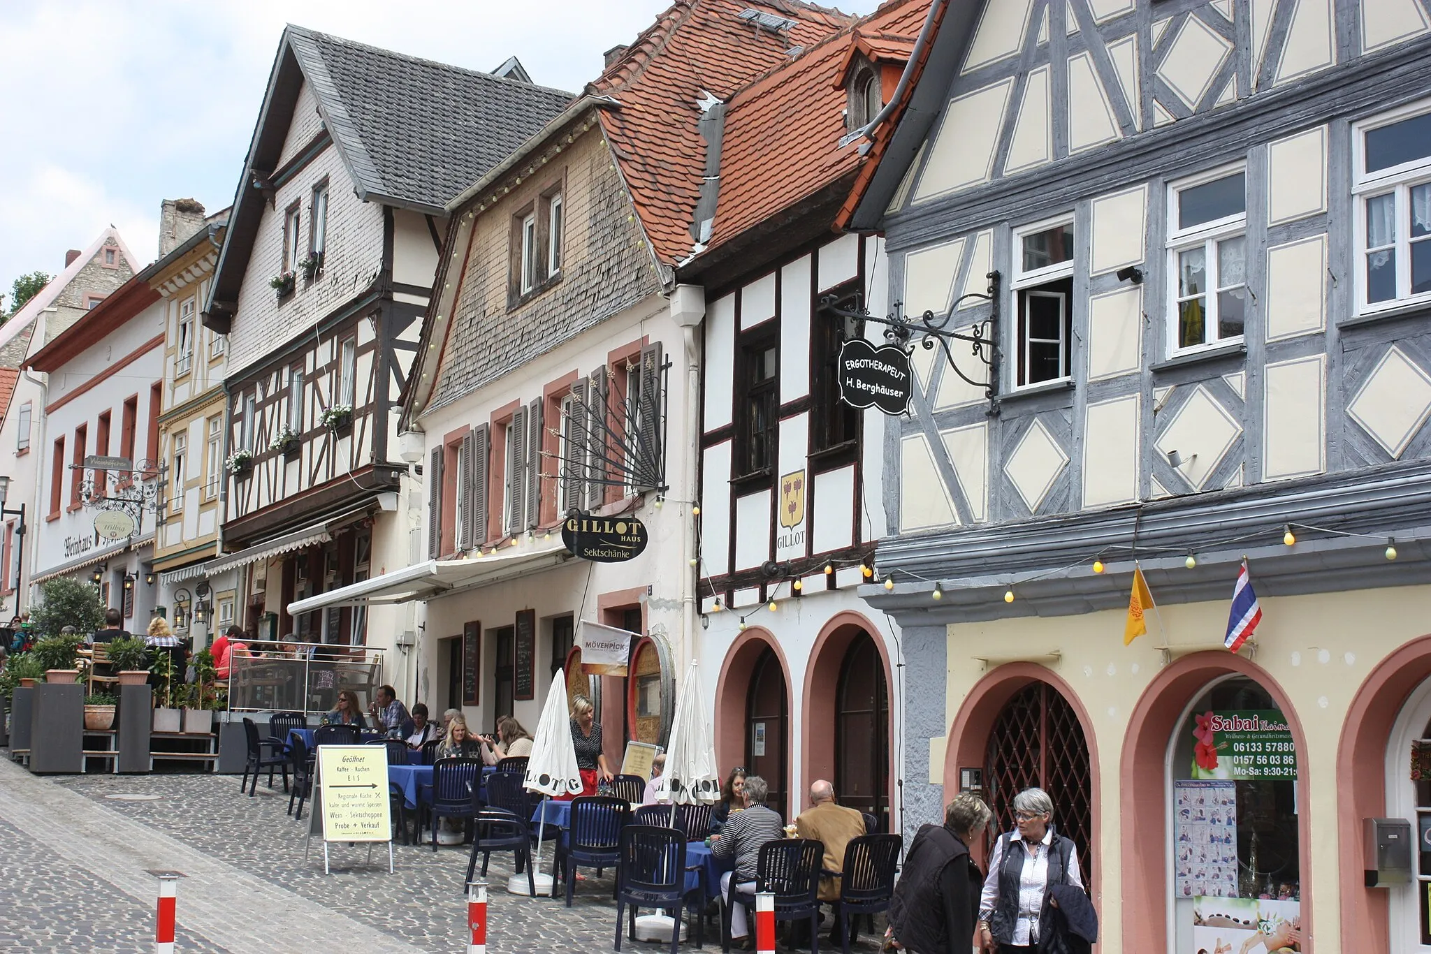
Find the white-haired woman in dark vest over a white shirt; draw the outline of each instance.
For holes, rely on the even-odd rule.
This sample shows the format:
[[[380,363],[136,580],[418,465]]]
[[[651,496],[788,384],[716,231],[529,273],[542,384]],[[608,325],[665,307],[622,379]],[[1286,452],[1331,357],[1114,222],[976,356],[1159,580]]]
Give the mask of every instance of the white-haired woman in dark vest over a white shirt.
[[[980,951],[1017,954],[1039,950],[1053,930],[1055,885],[1083,890],[1073,842],[1053,831],[1053,800],[1042,788],[1013,797],[1017,827],[999,835],[979,898]]]

